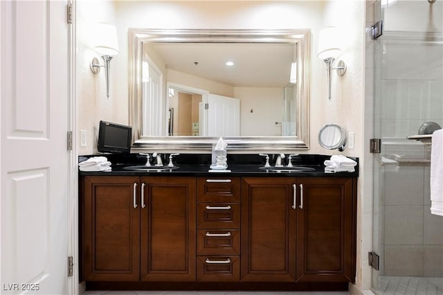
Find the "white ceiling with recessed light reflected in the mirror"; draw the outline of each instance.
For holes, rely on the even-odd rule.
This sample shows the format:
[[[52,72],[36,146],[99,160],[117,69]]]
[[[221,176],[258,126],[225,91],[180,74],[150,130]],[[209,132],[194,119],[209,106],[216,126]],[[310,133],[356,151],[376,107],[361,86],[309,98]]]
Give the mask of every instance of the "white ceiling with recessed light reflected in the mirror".
[[[155,51],[167,69],[232,87],[284,87],[294,50],[294,44],[270,43],[143,44],[143,51]],[[228,61],[234,65],[226,66]]]

